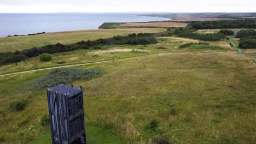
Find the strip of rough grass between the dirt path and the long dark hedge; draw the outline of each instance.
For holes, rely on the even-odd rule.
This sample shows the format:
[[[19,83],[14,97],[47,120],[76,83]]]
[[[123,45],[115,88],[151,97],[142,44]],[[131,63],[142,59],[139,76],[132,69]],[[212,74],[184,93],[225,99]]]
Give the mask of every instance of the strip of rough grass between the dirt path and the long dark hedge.
[[[173,49],[184,43],[199,43],[205,41],[191,40],[186,38],[177,38],[177,37],[162,37],[159,38],[160,43],[157,45],[125,45],[125,46],[104,46],[102,51],[98,50],[76,50],[72,52],[62,52],[53,54],[53,60],[50,62],[40,62],[38,57],[30,58],[27,61],[20,63],[14,63],[9,65],[3,65],[0,67],[0,75],[14,73],[25,70],[34,70],[42,69],[49,67],[59,67],[62,65],[71,65],[71,64],[80,64],[80,63],[92,63],[92,62],[101,62],[101,61],[115,61],[116,59],[123,59],[129,57],[143,56],[143,55],[155,55],[157,53],[166,53],[166,52],[181,52],[180,50]],[[207,41],[212,45],[226,47],[226,50],[230,49],[230,45],[227,41]],[[159,50],[157,47],[166,47],[167,50]],[[134,53],[132,50],[147,52]],[[118,51],[117,51],[118,50]],[[65,64],[57,64],[57,62],[63,62]]]

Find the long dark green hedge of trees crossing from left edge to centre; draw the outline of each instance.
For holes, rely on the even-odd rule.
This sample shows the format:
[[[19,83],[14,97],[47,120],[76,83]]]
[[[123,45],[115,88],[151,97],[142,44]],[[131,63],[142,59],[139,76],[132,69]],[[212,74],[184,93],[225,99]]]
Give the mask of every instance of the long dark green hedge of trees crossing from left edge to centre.
[[[63,45],[57,43],[55,45],[46,45],[43,47],[33,47],[32,49],[26,49],[22,51],[15,52],[5,52],[0,53],[0,65],[8,63],[17,63],[24,61],[25,59],[31,57],[37,57],[42,53],[57,53],[57,52],[67,52],[74,51],[78,49],[101,49],[100,46],[104,45],[147,45],[147,44],[157,44],[158,40],[156,38],[150,37],[152,33],[139,33],[139,34],[129,34],[127,36],[115,36],[108,39],[97,39],[94,41],[79,41],[75,44]]]

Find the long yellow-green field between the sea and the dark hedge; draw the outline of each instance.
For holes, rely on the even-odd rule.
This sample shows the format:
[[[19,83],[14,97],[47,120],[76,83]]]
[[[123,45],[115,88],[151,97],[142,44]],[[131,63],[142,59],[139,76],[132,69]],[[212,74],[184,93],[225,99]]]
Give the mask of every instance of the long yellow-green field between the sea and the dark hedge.
[[[31,49],[33,46],[42,47],[49,44],[72,44],[82,40],[110,38],[115,35],[131,33],[158,33],[166,31],[164,28],[128,28],[128,29],[99,29],[88,31],[71,31],[46,33],[31,36],[0,38],[0,52],[14,52],[16,50]]]

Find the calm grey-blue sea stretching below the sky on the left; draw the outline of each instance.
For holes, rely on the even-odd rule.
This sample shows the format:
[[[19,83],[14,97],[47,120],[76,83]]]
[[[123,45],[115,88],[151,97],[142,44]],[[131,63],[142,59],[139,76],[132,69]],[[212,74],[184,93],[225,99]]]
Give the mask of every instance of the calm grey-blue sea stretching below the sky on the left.
[[[97,29],[103,22],[162,21],[165,18],[128,14],[0,14],[0,37],[38,32]]]

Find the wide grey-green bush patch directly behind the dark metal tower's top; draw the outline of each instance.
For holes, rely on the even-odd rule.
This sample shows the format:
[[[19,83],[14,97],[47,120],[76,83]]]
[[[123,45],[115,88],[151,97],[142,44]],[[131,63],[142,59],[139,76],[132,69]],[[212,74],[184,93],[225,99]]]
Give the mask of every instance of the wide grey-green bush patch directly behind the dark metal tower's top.
[[[90,80],[106,74],[103,69],[79,69],[63,68],[55,69],[46,74],[43,78],[34,80],[28,88],[53,87],[61,83],[70,83],[76,80]]]

